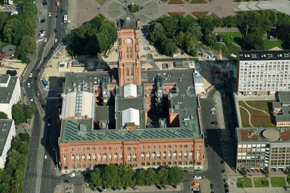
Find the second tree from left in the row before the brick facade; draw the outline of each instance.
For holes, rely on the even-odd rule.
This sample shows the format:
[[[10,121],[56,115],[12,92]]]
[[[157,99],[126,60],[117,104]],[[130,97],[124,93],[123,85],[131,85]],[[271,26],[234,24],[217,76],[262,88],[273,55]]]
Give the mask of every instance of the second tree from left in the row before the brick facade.
[[[103,171],[103,185],[105,187],[116,187],[119,185],[120,176],[116,165],[107,165]]]

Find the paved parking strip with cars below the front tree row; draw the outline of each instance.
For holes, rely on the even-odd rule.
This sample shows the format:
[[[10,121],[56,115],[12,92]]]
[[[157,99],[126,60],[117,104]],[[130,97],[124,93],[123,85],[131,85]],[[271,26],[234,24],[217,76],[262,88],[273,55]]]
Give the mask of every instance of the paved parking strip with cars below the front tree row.
[[[151,192],[151,191],[180,191],[180,185],[177,185],[176,189],[174,189],[171,185],[166,185],[166,187],[168,188],[168,190],[164,190],[164,188],[162,188],[161,190],[158,190],[155,185],[154,186],[135,186],[137,188],[136,191],[134,191],[131,187],[127,187],[126,192]],[[93,192],[92,190],[90,190],[90,188],[85,188],[85,192]],[[97,191],[98,192],[98,191]],[[103,192],[125,192],[124,188],[121,188],[121,191],[113,191],[111,188],[107,188],[106,191]]]

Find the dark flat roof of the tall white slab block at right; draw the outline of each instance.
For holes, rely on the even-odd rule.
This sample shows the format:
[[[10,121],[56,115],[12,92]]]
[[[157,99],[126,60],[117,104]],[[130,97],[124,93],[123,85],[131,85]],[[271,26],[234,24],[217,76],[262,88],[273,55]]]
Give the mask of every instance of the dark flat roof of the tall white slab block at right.
[[[290,60],[290,50],[238,51],[240,61]]]

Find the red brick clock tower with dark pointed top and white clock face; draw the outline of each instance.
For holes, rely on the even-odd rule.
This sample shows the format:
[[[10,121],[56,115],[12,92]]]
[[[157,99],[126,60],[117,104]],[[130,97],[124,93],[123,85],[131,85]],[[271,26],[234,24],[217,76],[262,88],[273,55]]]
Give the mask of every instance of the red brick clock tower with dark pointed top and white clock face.
[[[132,19],[128,9],[125,19],[117,20],[118,73],[120,86],[127,83],[141,85],[139,25],[139,19]]]

